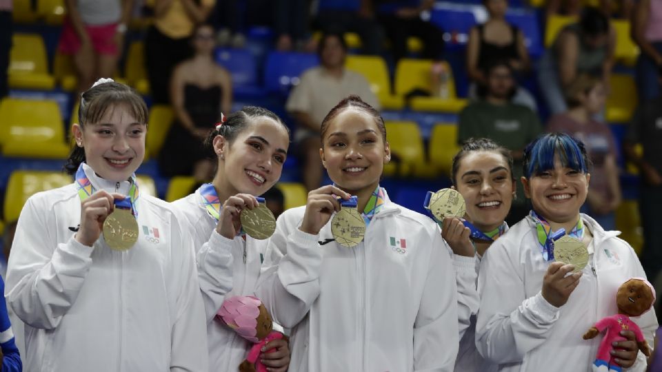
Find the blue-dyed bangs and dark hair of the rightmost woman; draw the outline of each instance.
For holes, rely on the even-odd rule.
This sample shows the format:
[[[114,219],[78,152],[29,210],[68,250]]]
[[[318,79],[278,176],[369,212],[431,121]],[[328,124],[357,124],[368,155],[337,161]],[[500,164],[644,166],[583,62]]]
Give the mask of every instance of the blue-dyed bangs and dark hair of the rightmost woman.
[[[524,149],[523,174],[531,178],[554,169],[554,155],[558,154],[563,167],[588,173],[590,161],[583,142],[565,133],[548,133],[536,138]]]

